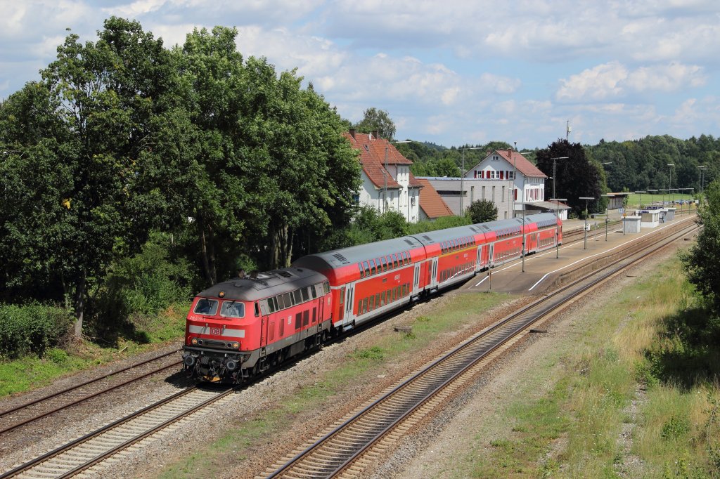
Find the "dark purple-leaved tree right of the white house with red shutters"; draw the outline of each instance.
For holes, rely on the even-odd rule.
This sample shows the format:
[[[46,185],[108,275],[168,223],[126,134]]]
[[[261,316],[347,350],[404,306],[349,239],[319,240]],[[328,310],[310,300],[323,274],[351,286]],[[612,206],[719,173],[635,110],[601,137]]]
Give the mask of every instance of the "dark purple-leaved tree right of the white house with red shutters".
[[[557,198],[566,198],[567,204],[580,214],[585,211],[585,200],[581,197],[595,198],[588,202],[588,210],[597,212],[602,209],[603,177],[600,175],[598,165],[591,163],[585,155],[585,149],[580,143],[570,143],[567,140],[557,140],[544,150],[537,153],[537,167],[549,178],[553,175],[552,158],[567,157],[555,160],[555,178],[545,183],[545,198],[552,196],[553,182]]]

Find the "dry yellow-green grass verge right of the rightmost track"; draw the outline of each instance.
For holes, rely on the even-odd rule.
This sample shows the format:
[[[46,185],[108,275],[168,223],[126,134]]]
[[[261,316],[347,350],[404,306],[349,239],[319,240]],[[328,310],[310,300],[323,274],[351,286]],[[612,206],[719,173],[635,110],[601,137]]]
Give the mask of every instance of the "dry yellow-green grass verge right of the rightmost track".
[[[512,426],[479,424],[446,475],[720,477],[718,384],[659,378],[648,354],[673,336],[666,325],[694,301],[680,263],[670,260],[598,303],[495,410],[497,424]]]

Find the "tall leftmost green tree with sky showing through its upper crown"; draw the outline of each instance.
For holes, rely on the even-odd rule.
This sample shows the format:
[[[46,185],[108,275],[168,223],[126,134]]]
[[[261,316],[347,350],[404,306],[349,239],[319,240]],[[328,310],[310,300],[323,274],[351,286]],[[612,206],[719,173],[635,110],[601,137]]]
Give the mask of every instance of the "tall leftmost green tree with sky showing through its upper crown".
[[[13,234],[26,230],[25,245],[17,247],[36,254],[32,263],[19,263],[4,245],[13,263],[6,285],[41,282],[56,299],[72,298],[77,336],[89,283],[147,238],[153,201],[135,194],[136,162],[148,152],[153,117],[168,105],[163,93],[174,78],[162,41],[137,22],[112,17],[98,37],[82,44],[68,35],[57,60],[42,70],[42,82],[11,96],[0,114],[3,150],[18,152],[7,168],[25,168],[30,160],[40,168],[26,182],[22,209],[3,219]],[[12,200],[4,198],[6,205]],[[48,226],[53,237],[42,231]]]

